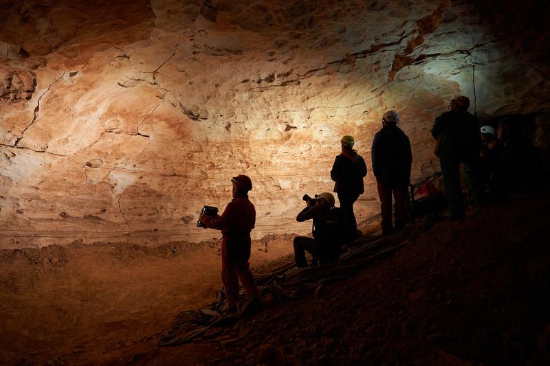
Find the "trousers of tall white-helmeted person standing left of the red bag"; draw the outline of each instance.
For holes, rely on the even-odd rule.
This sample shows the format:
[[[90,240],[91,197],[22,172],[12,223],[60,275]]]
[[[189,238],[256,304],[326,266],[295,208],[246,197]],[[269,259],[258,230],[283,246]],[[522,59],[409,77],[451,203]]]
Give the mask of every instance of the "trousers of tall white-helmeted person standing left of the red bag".
[[[377,181],[382,214],[382,233],[390,233],[392,226],[392,194],[395,200],[395,229],[403,229],[407,221],[407,185]]]

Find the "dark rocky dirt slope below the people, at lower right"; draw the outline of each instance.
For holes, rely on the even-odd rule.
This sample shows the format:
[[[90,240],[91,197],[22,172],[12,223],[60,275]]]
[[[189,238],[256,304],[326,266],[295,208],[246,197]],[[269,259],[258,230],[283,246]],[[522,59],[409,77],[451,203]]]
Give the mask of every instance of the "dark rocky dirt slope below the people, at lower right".
[[[177,365],[547,365],[548,194],[459,222],[417,222],[406,247],[350,279],[217,328],[125,354]],[[470,211],[470,214],[474,214]]]

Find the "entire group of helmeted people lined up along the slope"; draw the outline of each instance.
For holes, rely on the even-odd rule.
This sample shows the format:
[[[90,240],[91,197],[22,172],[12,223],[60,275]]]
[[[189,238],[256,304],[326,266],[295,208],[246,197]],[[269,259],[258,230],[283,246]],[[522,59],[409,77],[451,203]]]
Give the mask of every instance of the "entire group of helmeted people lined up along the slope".
[[[431,133],[437,140],[435,154],[441,162],[445,196],[452,219],[465,216],[465,200],[461,188],[460,165],[465,165],[467,182],[477,205],[485,198],[484,184],[489,184],[489,192],[499,192],[503,175],[500,159],[509,139],[509,124],[503,120],[498,133],[492,126],[479,128],[478,120],[467,112],[470,100],[465,96],[453,98],[450,111],[435,119]],[[412,152],[410,140],[397,126],[399,114],[387,111],[382,116],[382,129],[375,134],[371,149],[372,169],[377,182],[381,202],[382,235],[404,228],[408,221],[408,187]],[[480,133],[481,132],[481,133]],[[312,263],[328,264],[338,261],[341,246],[359,238],[362,233],[357,228],[353,204],[364,193],[363,179],[367,174],[364,159],[353,149],[355,140],[346,135],[340,140],[341,153],[334,160],[330,175],[335,181],[334,192],[340,201],[335,206],[335,198],[330,192],[317,194],[315,198],[304,196],[306,207],[296,220],[312,220],[313,238],[294,238],[294,258],[298,267],[307,267],[305,253],[311,254]],[[236,311],[239,297],[239,279],[249,297],[259,296],[259,289],[250,271],[250,231],[254,229],[256,211],[248,199],[252,190],[250,177],[238,175],[232,180],[232,201],[225,207],[221,216],[210,217],[201,214],[199,220],[204,227],[221,230],[222,281],[228,299],[228,312]],[[393,213],[393,201],[395,213]],[[395,216],[395,220],[393,220]]]

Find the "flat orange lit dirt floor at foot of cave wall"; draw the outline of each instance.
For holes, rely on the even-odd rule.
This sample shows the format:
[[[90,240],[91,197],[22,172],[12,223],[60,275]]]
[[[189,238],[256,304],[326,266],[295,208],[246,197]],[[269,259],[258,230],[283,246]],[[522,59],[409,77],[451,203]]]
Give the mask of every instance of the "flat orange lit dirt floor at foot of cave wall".
[[[253,270],[292,252],[292,237],[254,241]],[[98,363],[150,350],[179,312],[215,299],[219,245],[74,242],[0,251],[0,364]]]

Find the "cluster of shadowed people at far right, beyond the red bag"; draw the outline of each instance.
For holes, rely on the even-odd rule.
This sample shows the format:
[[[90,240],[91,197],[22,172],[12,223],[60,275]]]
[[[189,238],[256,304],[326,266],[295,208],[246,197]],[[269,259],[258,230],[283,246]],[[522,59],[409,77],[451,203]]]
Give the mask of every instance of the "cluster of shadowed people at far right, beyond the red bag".
[[[432,137],[441,163],[443,186],[452,220],[465,217],[466,205],[460,179],[463,163],[474,206],[489,200],[501,201],[511,192],[536,184],[538,155],[533,143],[521,131],[518,117],[500,119],[497,129],[479,127],[468,112],[470,100],[458,96],[449,109],[435,119]],[[485,187],[488,187],[488,190]]]

